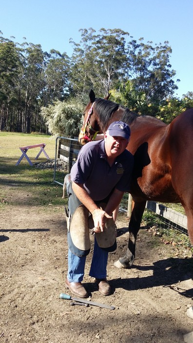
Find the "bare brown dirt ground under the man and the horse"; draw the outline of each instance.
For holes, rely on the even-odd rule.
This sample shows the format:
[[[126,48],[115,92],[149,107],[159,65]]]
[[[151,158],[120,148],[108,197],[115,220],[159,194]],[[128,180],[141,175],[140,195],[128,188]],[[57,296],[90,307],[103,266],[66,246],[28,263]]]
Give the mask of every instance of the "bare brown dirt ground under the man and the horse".
[[[6,190],[11,199],[11,185]],[[61,190],[62,194],[62,190]],[[151,230],[139,231],[131,269],[118,269],[128,243],[128,219],[119,214],[117,250],[110,253],[108,279],[113,293],[104,297],[88,276],[84,286],[105,309],[61,300],[67,271],[64,213],[29,206],[18,191],[18,206],[0,214],[0,342],[37,343],[183,343],[193,331],[186,314],[193,305],[190,250],[164,244]],[[12,199],[13,200],[13,199]],[[94,237],[91,235],[93,247]],[[187,336],[186,336],[187,337]],[[190,341],[193,342],[193,341]]]

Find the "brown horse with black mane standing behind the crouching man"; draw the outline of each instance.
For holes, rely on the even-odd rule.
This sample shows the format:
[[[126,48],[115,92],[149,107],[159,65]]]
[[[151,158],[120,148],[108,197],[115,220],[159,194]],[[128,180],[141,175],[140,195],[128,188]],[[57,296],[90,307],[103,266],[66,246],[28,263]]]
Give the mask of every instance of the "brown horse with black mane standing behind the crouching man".
[[[131,195],[135,205],[129,223],[126,254],[117,267],[131,267],[135,242],[146,201],[179,203],[188,219],[193,244],[193,109],[178,115],[169,125],[151,116],[140,116],[91,90],[79,142],[84,145],[96,132],[105,133],[109,124],[122,120],[130,125],[127,149],[135,158]]]

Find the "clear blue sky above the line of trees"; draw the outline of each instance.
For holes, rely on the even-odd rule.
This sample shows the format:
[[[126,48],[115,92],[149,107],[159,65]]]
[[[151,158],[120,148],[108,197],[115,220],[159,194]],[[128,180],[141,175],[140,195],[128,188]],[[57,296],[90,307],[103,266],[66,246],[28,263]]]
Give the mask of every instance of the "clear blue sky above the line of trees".
[[[193,91],[193,0],[0,0],[3,37],[41,44],[71,56],[69,39],[81,28],[119,28],[134,39],[172,47],[170,62],[179,78],[176,96]]]

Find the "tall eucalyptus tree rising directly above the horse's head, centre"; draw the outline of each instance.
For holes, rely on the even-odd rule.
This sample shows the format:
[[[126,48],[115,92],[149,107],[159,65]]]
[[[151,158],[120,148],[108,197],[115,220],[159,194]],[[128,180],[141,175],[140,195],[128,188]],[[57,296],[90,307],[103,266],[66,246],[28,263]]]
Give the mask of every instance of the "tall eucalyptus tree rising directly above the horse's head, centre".
[[[120,29],[80,29],[81,40],[75,43],[71,65],[71,83],[75,94],[82,99],[94,88],[104,96],[126,68],[125,43],[129,33]]]

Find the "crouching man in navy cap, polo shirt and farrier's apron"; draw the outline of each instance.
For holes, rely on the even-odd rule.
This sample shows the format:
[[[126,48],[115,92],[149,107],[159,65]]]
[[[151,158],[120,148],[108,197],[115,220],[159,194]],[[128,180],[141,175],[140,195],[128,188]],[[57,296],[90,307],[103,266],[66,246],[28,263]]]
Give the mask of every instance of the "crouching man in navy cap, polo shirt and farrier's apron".
[[[129,139],[129,126],[122,121],[113,122],[105,132],[104,140],[90,142],[81,148],[77,162],[71,169],[68,190],[68,273],[65,284],[80,298],[88,297],[81,282],[86,255],[90,252],[89,212],[95,231],[89,275],[95,278],[101,294],[111,293],[106,277],[108,252],[116,249],[112,213],[123,193],[130,191],[134,158],[126,150]]]

